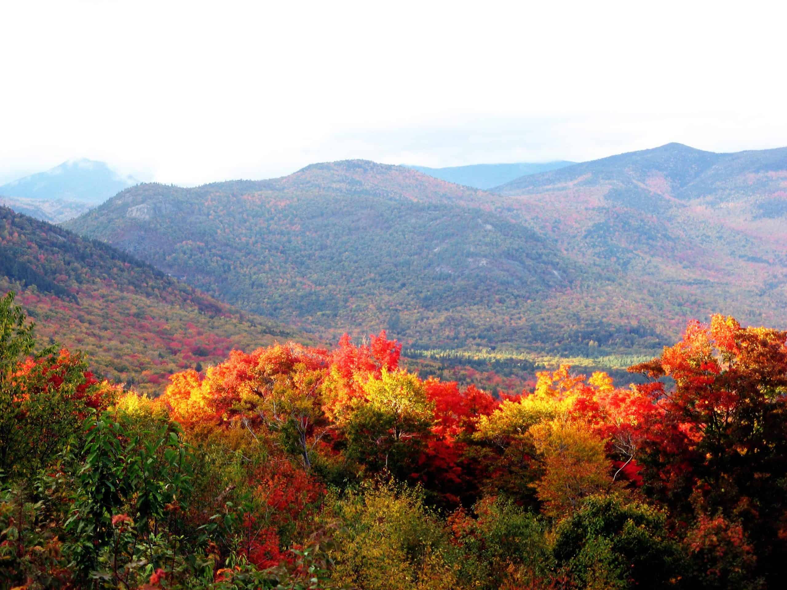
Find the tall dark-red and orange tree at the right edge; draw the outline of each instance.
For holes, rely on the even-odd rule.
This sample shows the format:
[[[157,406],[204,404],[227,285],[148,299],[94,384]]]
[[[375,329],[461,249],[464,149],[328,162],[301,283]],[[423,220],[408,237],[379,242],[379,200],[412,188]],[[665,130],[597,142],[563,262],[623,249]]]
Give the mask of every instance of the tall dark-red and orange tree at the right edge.
[[[689,498],[700,495],[704,518],[742,522],[773,579],[787,563],[785,341],[785,331],[715,315],[630,368],[657,380],[644,389],[662,412],[648,437],[648,489],[678,513],[691,514]]]

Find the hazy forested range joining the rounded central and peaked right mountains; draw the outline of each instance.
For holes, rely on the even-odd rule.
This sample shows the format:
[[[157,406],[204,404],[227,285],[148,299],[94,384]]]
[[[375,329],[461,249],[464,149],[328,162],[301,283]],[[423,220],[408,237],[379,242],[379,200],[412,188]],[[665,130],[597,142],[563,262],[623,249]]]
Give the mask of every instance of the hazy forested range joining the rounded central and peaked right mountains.
[[[345,160],[142,184],[66,225],[322,337],[598,357],[656,351],[711,312],[783,325],[785,179],[785,150],[679,144],[490,191]]]

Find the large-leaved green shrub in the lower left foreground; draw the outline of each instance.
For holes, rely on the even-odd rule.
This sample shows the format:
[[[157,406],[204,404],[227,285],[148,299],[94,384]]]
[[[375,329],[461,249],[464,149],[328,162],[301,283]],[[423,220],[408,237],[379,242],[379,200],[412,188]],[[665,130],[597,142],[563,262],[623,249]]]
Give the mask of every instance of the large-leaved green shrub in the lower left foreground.
[[[71,457],[76,489],[65,522],[79,579],[99,578],[129,585],[139,571],[184,566],[197,535],[184,520],[191,492],[190,448],[176,422],[161,419],[153,429],[129,435],[122,412],[86,419],[87,437]]]

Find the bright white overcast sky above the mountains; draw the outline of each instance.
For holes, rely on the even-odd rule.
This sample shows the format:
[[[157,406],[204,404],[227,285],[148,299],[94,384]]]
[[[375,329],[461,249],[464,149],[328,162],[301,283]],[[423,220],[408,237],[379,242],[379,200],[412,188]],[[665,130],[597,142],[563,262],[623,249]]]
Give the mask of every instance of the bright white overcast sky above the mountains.
[[[787,146],[785,2],[2,2],[0,183]]]

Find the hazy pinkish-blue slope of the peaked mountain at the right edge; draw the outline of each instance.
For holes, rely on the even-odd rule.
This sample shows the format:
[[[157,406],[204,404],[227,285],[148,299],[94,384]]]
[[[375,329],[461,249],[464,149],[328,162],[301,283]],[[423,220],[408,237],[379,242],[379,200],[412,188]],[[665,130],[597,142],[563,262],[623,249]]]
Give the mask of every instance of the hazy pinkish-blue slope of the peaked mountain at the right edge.
[[[785,186],[785,148],[667,144],[523,176],[483,206],[644,288],[671,286],[747,322],[784,325]]]

